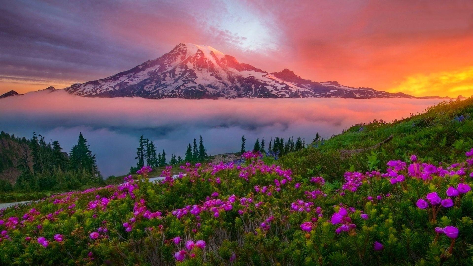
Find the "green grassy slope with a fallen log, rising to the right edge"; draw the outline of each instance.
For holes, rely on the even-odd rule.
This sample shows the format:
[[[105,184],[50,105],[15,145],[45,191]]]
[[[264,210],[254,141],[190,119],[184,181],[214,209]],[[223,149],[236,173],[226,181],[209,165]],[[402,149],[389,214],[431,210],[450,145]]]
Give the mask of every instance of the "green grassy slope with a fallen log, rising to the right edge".
[[[461,115],[464,120],[460,122]],[[454,162],[463,159],[464,151],[473,146],[472,118],[473,98],[444,102],[425,113],[393,123],[374,121],[354,125],[329,140],[283,156],[278,163],[303,177],[323,175],[331,180],[342,177],[350,168],[369,170],[368,156],[373,156],[369,149],[348,156],[339,150],[371,147],[390,135],[394,135],[390,142],[373,150],[374,167],[385,168],[388,160],[407,160],[414,153],[433,163]]]

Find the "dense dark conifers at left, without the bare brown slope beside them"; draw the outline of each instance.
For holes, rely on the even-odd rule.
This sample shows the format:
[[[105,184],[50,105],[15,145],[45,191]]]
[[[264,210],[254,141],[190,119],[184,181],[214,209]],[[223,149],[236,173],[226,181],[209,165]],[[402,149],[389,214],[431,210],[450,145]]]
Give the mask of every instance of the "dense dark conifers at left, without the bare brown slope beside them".
[[[22,145],[24,151],[18,161],[20,175],[13,190],[32,192],[67,190],[83,185],[101,184],[102,176],[97,169],[96,155],[89,150],[87,139],[79,133],[77,144],[68,155],[58,141],[46,142],[44,136],[33,132],[31,139],[16,138],[1,132],[1,138],[9,138]]]

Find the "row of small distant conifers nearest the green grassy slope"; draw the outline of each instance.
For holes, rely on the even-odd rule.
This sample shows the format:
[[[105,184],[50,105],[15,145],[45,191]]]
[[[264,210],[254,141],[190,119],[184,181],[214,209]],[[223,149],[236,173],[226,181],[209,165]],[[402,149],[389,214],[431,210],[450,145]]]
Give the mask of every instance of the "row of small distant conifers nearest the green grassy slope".
[[[315,138],[318,139],[317,141],[320,141],[320,136],[318,132]],[[240,154],[246,151],[245,143],[246,143],[246,139],[245,139],[245,135],[243,135],[241,138],[241,146],[240,146],[240,152],[239,152]],[[294,137],[290,137],[286,141],[284,141],[284,139],[280,137],[271,138],[268,144],[267,150],[265,147],[264,138],[262,138],[261,140],[260,138],[256,138],[252,151],[261,151],[263,153],[271,152],[271,153],[275,153],[279,155],[285,155],[289,152],[300,151],[305,148],[306,148],[306,140],[301,137],[297,137],[296,141],[294,141]]]

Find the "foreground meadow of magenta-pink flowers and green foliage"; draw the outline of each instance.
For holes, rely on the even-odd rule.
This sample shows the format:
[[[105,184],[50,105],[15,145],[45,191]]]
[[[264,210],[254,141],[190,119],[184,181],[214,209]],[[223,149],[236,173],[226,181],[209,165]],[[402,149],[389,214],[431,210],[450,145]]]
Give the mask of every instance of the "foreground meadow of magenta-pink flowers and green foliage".
[[[1,265],[468,265],[473,149],[415,155],[341,183],[302,178],[258,152],[181,166],[173,178],[53,195],[1,210]]]

